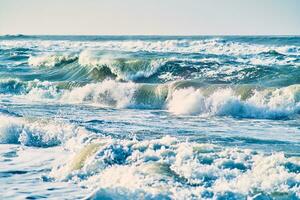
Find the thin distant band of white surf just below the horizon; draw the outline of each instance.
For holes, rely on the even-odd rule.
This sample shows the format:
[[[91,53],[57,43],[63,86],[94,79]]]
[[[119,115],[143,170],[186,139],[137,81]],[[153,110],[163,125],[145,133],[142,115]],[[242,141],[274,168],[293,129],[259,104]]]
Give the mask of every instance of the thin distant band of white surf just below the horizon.
[[[294,45],[276,46],[235,42],[218,38],[202,40],[125,40],[125,41],[68,41],[68,40],[0,40],[0,48],[35,48],[40,51],[64,52],[69,49],[127,51],[127,52],[165,52],[165,53],[204,53],[215,55],[253,55],[264,52],[277,52],[285,55],[299,55],[300,47]]]

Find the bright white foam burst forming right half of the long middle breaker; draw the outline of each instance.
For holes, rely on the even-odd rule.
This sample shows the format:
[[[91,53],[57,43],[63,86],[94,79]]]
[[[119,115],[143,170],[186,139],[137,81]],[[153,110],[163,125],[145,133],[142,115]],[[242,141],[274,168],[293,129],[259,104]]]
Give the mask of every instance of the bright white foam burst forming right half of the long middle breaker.
[[[280,89],[192,87],[176,90],[167,104],[174,114],[209,114],[246,118],[281,119],[299,114],[300,86]]]

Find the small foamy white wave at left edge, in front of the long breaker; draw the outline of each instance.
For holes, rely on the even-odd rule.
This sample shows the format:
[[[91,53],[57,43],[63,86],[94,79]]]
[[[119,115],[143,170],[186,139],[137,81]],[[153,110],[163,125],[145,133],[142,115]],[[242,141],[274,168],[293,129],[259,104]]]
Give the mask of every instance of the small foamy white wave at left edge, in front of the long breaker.
[[[64,144],[83,130],[60,121],[0,115],[0,144],[53,147]]]

